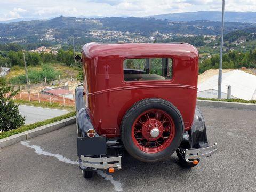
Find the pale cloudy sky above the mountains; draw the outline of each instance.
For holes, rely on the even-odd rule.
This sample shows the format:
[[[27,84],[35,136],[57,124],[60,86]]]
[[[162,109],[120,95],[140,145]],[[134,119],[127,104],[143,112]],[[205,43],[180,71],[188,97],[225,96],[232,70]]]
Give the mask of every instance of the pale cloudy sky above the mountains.
[[[147,16],[190,11],[221,11],[222,0],[0,0],[0,20],[63,16]],[[255,0],[226,0],[227,11],[254,11]]]

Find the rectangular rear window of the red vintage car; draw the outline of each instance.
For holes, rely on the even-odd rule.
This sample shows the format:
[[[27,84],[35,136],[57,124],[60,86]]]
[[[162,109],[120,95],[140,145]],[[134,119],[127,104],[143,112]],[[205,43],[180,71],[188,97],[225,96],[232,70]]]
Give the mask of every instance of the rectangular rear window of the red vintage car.
[[[156,81],[172,78],[171,58],[125,59],[125,81]]]

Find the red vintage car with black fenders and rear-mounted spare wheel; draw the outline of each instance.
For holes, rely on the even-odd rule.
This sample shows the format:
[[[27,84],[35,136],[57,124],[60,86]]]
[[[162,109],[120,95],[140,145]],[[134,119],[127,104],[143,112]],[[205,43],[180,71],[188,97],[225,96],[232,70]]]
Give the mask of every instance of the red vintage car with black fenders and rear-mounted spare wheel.
[[[97,169],[121,169],[124,150],[145,162],[161,161],[176,151],[186,167],[217,150],[216,143],[208,145],[196,107],[194,46],[88,43],[81,62],[77,154],[84,177]]]

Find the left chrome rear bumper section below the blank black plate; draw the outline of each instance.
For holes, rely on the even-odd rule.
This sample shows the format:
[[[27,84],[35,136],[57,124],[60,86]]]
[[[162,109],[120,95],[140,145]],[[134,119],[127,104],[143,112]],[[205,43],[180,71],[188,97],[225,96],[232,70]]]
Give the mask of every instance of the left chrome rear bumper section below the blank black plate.
[[[92,158],[81,155],[79,166],[81,169],[121,169],[121,155],[117,157]]]

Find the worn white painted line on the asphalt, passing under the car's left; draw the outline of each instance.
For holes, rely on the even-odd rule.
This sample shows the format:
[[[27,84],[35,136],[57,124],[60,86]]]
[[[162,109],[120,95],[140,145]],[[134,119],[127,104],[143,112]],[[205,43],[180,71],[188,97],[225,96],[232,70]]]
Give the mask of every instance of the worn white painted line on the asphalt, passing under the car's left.
[[[73,161],[69,158],[64,157],[63,155],[60,154],[53,154],[47,151],[44,151],[41,147],[37,146],[37,145],[29,145],[30,141],[21,141],[20,143],[28,148],[34,149],[35,153],[39,154],[39,155],[45,155],[45,156],[51,156],[51,157],[55,157],[57,158],[59,161],[64,162],[64,163],[68,163],[71,165],[78,165],[77,161]],[[106,174],[105,172],[101,171],[101,170],[97,170],[97,174],[100,175],[103,179],[110,181],[113,186],[115,191],[118,192],[122,192],[122,184],[119,181],[115,181],[113,179],[113,176]]]

